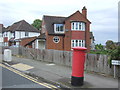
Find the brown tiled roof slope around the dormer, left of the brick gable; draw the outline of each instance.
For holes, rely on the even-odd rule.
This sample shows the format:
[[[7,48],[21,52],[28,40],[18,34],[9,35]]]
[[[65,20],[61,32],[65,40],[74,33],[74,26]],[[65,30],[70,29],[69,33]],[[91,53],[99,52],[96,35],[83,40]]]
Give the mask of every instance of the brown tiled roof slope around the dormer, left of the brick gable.
[[[55,34],[54,33],[54,24],[63,24],[66,17],[57,17],[57,16],[43,16],[43,19],[46,24],[46,29],[48,34]]]

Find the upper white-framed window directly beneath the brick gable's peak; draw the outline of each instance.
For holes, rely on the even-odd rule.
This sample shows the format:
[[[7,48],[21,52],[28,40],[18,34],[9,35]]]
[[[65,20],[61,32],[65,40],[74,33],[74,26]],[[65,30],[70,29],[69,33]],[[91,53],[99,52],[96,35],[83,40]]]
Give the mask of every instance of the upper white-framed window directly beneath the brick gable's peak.
[[[72,22],[71,29],[78,30],[78,31],[80,31],[80,30],[85,31],[85,23],[84,22]]]

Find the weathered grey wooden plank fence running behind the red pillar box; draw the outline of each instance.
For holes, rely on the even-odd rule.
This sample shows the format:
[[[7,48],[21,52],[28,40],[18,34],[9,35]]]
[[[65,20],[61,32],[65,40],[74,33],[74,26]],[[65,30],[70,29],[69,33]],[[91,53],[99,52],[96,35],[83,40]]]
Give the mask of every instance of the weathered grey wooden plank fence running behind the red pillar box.
[[[33,49],[24,47],[10,47],[13,55],[22,55],[29,59],[55,63],[65,66],[72,66],[72,52],[58,51],[47,49]],[[116,76],[118,76],[118,66],[116,68]],[[113,66],[110,68],[107,55],[87,54],[85,62],[85,70],[90,72],[102,73],[105,75],[113,75]]]

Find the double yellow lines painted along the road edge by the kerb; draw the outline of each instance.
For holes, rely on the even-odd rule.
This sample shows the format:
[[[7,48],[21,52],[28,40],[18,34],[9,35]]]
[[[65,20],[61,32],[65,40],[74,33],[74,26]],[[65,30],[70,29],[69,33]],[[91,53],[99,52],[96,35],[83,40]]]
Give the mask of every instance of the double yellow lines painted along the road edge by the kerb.
[[[0,64],[0,66],[2,66],[2,67],[4,67],[4,68],[6,68],[6,69],[8,69],[8,70],[10,70],[10,71],[18,74],[18,75],[20,75],[20,76],[22,76],[22,77],[24,77],[24,78],[27,78],[27,79],[29,79],[29,80],[31,80],[31,81],[33,81],[34,83],[37,83],[37,84],[39,84],[39,85],[45,86],[45,87],[47,87],[47,88],[51,88],[51,89],[53,89],[53,90],[54,90],[54,88],[57,88],[56,86],[53,86],[53,85],[50,85],[50,84],[47,84],[47,83],[40,83],[40,82],[37,81],[37,79],[35,79],[35,78],[31,77],[31,76],[28,76],[28,75],[26,75],[26,74],[23,74],[23,73],[21,73],[20,71],[17,71],[17,70],[15,70],[15,69],[13,69],[13,68],[7,67],[7,66],[5,66],[5,65],[3,65],[3,64]]]

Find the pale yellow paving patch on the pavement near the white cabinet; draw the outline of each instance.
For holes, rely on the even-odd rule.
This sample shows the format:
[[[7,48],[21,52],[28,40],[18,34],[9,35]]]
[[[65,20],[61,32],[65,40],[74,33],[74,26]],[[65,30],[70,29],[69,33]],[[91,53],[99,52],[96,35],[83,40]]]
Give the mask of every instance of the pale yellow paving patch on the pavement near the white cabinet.
[[[16,68],[18,70],[22,70],[22,71],[26,71],[26,70],[34,68],[30,65],[23,64],[23,63],[14,64],[14,65],[11,65],[11,67]]]

